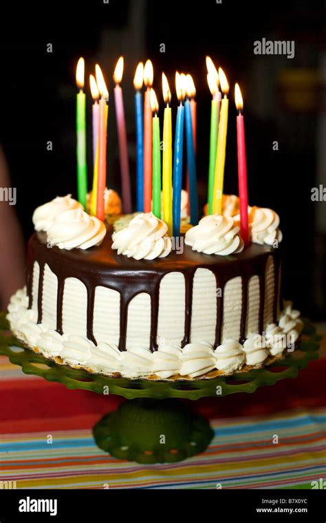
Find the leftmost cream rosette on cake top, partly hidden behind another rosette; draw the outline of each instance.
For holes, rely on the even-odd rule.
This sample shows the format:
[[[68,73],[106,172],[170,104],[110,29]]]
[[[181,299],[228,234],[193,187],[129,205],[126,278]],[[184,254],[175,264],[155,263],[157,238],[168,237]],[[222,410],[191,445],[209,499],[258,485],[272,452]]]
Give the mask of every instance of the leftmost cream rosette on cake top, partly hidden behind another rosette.
[[[83,205],[74,200],[71,194],[57,196],[51,202],[36,207],[32,216],[35,231],[48,231],[58,215],[75,209],[83,210]]]

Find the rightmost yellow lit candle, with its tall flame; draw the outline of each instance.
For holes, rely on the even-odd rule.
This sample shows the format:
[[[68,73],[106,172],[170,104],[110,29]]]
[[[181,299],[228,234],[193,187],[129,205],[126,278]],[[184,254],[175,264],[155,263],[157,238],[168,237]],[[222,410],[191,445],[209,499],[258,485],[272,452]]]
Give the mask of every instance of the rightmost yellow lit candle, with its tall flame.
[[[213,213],[213,193],[215,180],[215,162],[217,150],[217,134],[219,129],[219,111],[221,109],[221,92],[219,91],[219,74],[209,56],[206,56],[207,83],[212,94],[210,109],[210,147],[208,168],[208,214]]]

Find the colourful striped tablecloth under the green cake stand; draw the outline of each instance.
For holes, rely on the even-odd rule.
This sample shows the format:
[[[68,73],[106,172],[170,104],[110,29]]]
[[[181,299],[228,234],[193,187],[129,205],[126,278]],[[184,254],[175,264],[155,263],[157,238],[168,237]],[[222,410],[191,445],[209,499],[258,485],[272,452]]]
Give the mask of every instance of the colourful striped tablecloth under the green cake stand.
[[[311,488],[326,477],[325,370],[320,359],[254,394],[188,402],[215,431],[206,452],[138,465],[111,458],[91,435],[122,398],[25,376],[0,356],[0,488]]]

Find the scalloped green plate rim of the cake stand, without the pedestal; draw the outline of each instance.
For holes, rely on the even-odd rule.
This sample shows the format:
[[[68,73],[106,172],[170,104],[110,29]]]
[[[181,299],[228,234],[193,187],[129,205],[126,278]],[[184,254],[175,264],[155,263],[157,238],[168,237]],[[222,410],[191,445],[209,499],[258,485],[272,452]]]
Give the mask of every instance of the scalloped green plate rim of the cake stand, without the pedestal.
[[[301,339],[296,350],[286,352],[270,366],[235,372],[230,376],[210,379],[149,381],[147,379],[110,378],[93,374],[87,370],[59,365],[41,354],[26,348],[9,332],[5,314],[0,316],[0,354],[8,356],[10,362],[19,365],[25,374],[41,376],[47,381],[63,383],[68,389],[85,389],[97,394],[118,394],[126,399],[133,398],[186,398],[197,400],[208,396],[227,396],[236,392],[252,393],[262,385],[274,385],[281,379],[296,378],[299,370],[309,361],[318,359],[321,336],[309,320],[304,319]],[[19,351],[17,351],[19,348]],[[109,389],[107,389],[109,387]]]

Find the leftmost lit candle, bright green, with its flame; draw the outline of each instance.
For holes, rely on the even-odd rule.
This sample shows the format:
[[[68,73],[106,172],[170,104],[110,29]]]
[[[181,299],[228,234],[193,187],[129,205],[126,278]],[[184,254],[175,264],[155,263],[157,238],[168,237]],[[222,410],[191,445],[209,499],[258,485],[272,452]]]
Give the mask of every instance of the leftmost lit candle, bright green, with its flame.
[[[85,61],[79,58],[76,68],[76,84],[79,92],[76,98],[76,134],[77,134],[77,187],[78,200],[86,209],[87,198],[87,160],[86,160],[86,100],[83,92],[85,79]]]

